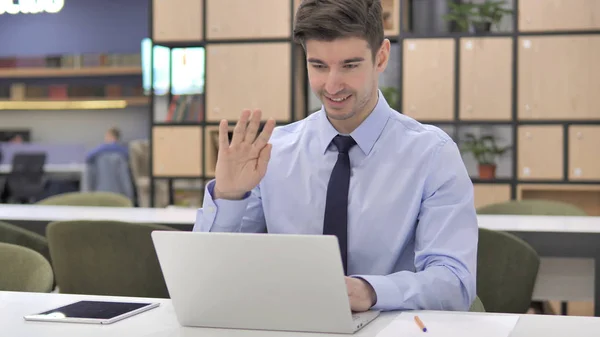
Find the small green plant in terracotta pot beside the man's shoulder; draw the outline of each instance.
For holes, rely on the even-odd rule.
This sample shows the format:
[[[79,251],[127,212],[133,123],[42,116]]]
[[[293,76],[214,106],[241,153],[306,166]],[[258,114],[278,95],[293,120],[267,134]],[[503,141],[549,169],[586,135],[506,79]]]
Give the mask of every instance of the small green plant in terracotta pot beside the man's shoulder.
[[[477,138],[474,134],[465,135],[462,151],[471,152],[478,164],[480,179],[494,179],[496,177],[496,159],[503,155],[510,147],[499,147],[491,135]]]

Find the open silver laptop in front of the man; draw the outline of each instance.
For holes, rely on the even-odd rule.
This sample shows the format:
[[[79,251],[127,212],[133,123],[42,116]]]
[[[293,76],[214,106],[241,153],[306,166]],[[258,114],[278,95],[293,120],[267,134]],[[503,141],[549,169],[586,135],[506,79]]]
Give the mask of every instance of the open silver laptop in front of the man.
[[[350,309],[329,235],[154,231],[182,326],[354,333],[379,312]]]

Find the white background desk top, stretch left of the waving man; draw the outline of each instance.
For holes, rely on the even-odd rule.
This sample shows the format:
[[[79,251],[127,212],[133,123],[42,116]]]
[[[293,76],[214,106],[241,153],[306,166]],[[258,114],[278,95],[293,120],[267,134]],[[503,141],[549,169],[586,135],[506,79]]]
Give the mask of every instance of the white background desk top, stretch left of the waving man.
[[[0,205],[0,220],[65,221],[114,220],[166,225],[190,225],[196,221],[195,208],[87,207],[49,205]]]

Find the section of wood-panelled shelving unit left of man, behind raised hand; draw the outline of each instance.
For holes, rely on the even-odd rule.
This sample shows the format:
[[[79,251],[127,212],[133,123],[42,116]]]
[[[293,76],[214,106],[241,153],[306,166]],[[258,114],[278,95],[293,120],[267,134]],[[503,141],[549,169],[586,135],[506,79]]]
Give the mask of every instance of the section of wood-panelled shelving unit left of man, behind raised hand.
[[[174,62],[172,57],[165,61],[168,65],[157,65],[162,67],[159,75],[168,76],[170,87],[164,94],[156,90],[150,93],[150,195],[155,195],[156,183],[166,181],[169,203],[178,203],[174,186],[189,182],[193,185],[191,194],[181,194],[201,202],[204,183],[214,178],[221,119],[228,120],[232,128],[246,108],[260,108],[263,120],[272,117],[278,125],[306,116],[303,51],[292,40],[292,17],[299,3],[176,0],[167,5],[164,1],[151,1],[153,44],[168,49],[165,55],[172,55],[177,49],[183,53],[201,50],[204,67],[187,71],[197,74],[195,78],[203,82],[201,89],[191,93],[198,98],[199,106],[178,108],[173,104],[178,96],[172,90],[178,81],[173,72],[185,65]],[[151,83],[155,89],[154,79]],[[169,117],[173,114],[180,118]],[[156,206],[154,199],[151,198],[152,206]]]

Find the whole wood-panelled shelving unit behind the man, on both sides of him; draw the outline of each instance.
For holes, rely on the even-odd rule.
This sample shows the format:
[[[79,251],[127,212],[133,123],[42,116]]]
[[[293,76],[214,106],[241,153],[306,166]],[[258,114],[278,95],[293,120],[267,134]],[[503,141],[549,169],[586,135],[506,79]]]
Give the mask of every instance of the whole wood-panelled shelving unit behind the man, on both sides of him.
[[[225,118],[233,125],[243,108],[260,107],[264,118],[274,117],[281,125],[320,106],[306,81],[304,52],[291,39],[299,3],[257,0],[251,6],[254,15],[248,15],[244,0],[176,0],[176,6],[152,1],[156,45],[206,52],[200,119],[159,117],[166,115],[173,95],[151,96],[151,133],[180,138],[151,142],[153,179],[170,184],[195,179],[204,186],[214,176],[218,121]],[[600,197],[600,157],[593,155],[600,146],[600,63],[594,58],[600,55],[600,4],[511,3],[514,13],[501,30],[467,33],[453,31],[443,13],[433,13],[437,19],[416,14],[434,10],[431,4],[383,0],[392,59],[380,84],[396,88],[393,103],[399,112],[440,126],[459,144],[466,132],[474,132],[501,134],[499,143],[511,146],[491,180],[480,179],[472,156],[464,155],[476,206],[532,197],[591,195],[595,200]],[[193,136],[182,140],[183,130]],[[160,163],[178,158],[190,167],[159,170]],[[600,215],[599,203],[580,205]]]

